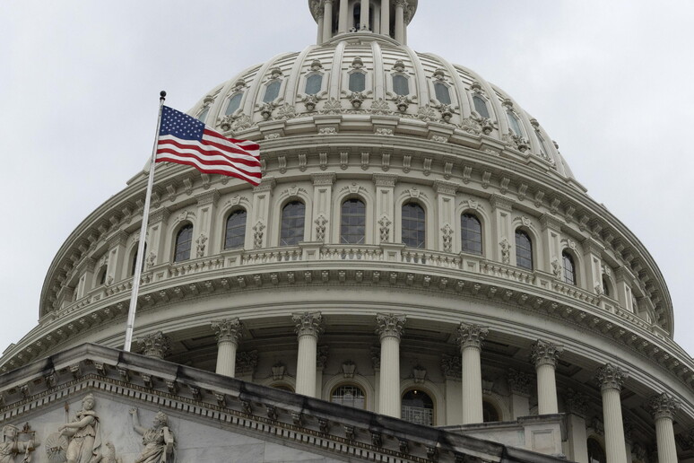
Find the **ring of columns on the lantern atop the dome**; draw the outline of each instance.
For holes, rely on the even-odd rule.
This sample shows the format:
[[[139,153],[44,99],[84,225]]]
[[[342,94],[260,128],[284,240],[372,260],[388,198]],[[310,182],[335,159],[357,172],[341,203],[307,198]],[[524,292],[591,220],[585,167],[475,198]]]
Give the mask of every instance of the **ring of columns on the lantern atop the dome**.
[[[395,5],[394,31],[391,31],[390,23],[391,3]],[[408,0],[360,0],[360,17],[355,19],[353,28],[350,28],[349,0],[321,0],[315,12],[318,22],[317,43],[320,45],[333,38],[333,13],[334,8],[337,8],[337,34],[371,31],[387,37],[392,35],[397,42],[405,44],[409,7]]]

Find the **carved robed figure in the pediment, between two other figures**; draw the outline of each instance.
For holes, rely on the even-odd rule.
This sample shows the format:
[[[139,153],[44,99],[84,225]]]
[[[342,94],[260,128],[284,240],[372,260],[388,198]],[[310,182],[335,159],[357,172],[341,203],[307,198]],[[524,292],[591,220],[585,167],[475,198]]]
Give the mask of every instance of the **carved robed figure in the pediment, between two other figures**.
[[[77,412],[73,421],[58,428],[59,434],[68,440],[65,450],[67,463],[90,463],[100,457],[101,433],[95,405],[94,396],[88,394],[82,399],[82,410]]]

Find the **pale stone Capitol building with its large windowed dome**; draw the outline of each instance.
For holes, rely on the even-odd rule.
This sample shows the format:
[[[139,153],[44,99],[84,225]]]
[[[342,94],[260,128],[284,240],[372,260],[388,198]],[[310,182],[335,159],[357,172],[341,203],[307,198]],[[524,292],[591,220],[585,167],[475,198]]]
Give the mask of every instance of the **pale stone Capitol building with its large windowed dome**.
[[[262,183],[158,164],[143,355],[118,349],[149,166],[58,250],[39,325],[0,359],[4,419],[41,429],[62,385],[231,433],[256,420],[241,434],[274,426],[320,461],[694,461],[664,277],[542,124],[409,48],[417,0],[308,6],[317,45],[188,111],[258,141]]]

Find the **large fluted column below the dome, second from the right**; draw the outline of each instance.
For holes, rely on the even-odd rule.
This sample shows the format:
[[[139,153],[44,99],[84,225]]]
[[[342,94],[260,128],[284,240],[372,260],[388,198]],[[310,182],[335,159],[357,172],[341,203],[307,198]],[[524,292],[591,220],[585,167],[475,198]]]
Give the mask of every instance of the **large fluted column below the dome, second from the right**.
[[[620,400],[621,386],[627,377],[625,371],[611,363],[606,363],[595,375],[603,394],[605,453],[609,463],[627,463],[627,447],[624,441],[624,421],[621,416]]]

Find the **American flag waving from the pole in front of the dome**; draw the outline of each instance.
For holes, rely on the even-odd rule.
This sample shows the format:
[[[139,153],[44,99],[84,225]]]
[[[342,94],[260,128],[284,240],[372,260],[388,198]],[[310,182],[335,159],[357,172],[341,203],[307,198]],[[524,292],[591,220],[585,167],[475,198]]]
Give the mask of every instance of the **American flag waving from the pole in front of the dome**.
[[[205,173],[216,173],[260,183],[260,146],[234,140],[204,123],[164,106],[157,142],[156,162],[176,162]]]

